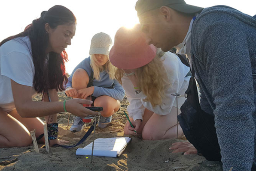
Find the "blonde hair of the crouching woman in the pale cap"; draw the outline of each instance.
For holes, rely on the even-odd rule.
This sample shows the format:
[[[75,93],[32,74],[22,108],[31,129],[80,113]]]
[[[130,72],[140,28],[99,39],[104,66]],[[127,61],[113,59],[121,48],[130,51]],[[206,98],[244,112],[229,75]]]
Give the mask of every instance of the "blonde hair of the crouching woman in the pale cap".
[[[95,55],[91,54],[90,55],[90,59],[91,59],[91,68],[93,69],[93,78],[95,78],[96,80],[101,80],[100,77],[100,72],[106,70],[106,72],[109,74],[110,76],[110,80],[114,80],[115,79],[115,70],[116,67],[114,67],[111,63],[110,63],[110,59],[109,56],[107,56],[107,63],[103,66],[98,65],[95,60]]]

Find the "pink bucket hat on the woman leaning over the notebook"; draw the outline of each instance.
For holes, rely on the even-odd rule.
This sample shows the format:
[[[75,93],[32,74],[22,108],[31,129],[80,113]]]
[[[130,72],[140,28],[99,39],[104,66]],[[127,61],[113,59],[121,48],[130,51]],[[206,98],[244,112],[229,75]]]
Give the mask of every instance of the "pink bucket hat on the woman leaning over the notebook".
[[[115,35],[110,50],[110,62],[120,69],[140,68],[151,62],[156,55],[153,44],[147,45],[145,35],[137,24],[132,29],[121,27]]]

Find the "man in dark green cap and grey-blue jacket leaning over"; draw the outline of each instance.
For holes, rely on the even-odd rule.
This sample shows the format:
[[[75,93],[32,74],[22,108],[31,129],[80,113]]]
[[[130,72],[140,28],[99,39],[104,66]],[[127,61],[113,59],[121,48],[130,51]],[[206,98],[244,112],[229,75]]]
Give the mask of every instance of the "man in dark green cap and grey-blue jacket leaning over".
[[[135,8],[148,44],[191,59],[201,108],[215,117],[223,170],[256,170],[256,18],[184,0],[138,0]],[[196,153],[188,145],[172,149]]]

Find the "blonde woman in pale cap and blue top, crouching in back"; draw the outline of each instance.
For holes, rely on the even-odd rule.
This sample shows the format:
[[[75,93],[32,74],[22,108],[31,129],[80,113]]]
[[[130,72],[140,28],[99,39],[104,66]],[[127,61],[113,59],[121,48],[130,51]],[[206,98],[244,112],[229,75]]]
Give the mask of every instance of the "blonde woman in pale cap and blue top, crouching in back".
[[[90,57],[85,58],[76,66],[66,85],[65,93],[69,97],[88,99],[94,102],[92,106],[102,106],[98,126],[104,128],[111,122],[114,112],[119,110],[120,100],[125,96],[122,85],[115,80],[115,68],[109,61],[109,51],[112,40],[109,35],[100,32],[91,39]],[[82,118],[73,117],[70,127],[72,132],[78,132],[85,126]]]

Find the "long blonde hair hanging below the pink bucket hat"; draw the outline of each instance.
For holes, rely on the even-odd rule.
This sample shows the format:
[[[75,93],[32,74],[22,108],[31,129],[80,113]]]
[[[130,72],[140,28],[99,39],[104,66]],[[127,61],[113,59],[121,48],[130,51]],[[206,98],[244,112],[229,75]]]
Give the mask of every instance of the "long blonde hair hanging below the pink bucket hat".
[[[146,95],[144,101],[149,101],[153,107],[160,105],[165,97],[165,90],[170,85],[168,76],[164,68],[162,56],[163,51],[157,53],[155,58],[143,67],[137,68],[135,71],[138,80],[138,86]],[[124,76],[122,69],[116,69],[116,80],[122,84],[121,78]]]

